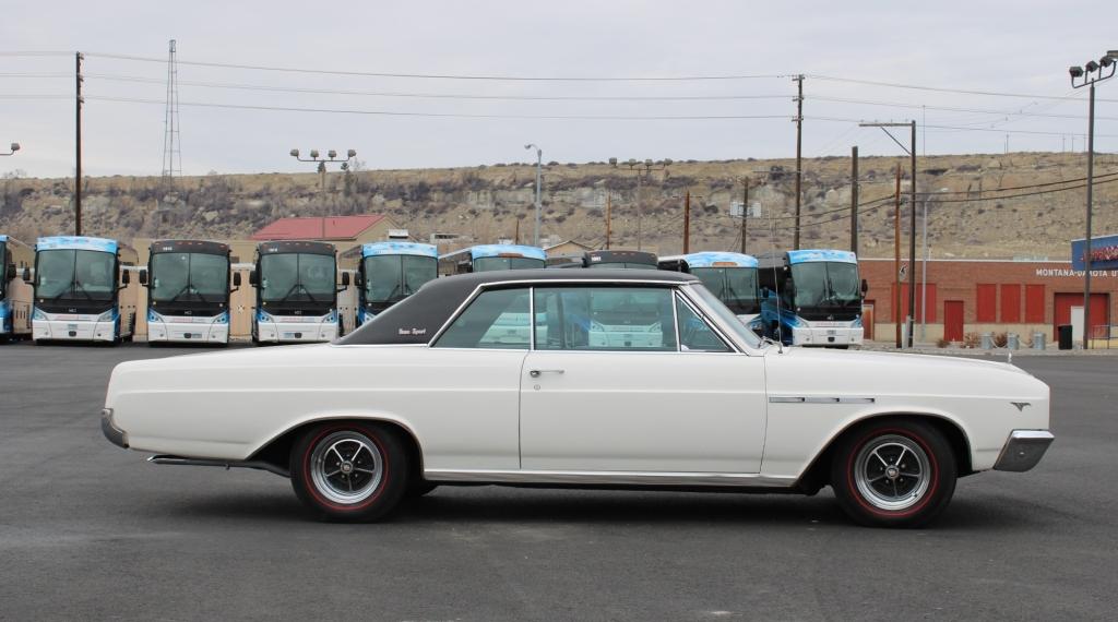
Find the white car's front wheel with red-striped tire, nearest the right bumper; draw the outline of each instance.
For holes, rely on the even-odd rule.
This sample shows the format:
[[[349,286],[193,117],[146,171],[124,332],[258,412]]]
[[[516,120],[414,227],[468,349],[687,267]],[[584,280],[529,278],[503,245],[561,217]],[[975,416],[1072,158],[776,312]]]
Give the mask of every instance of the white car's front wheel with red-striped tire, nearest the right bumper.
[[[917,527],[955,492],[947,439],[921,421],[872,421],[846,433],[831,461],[831,486],[851,518],[874,527]]]

